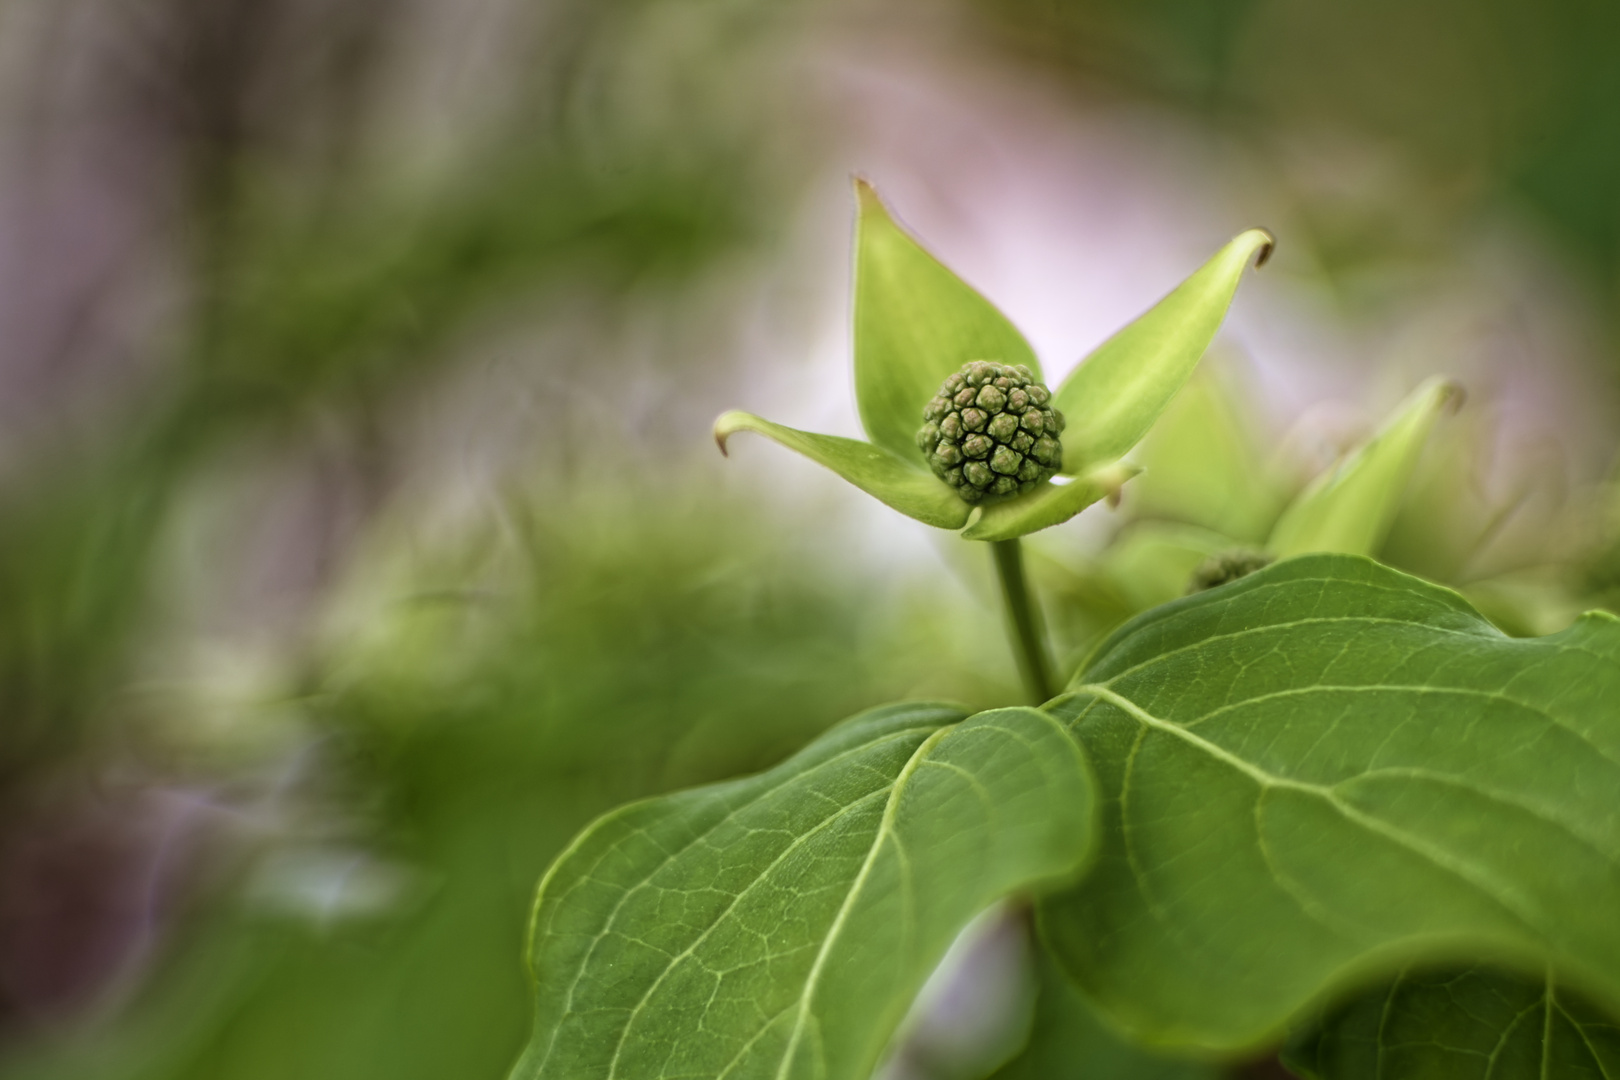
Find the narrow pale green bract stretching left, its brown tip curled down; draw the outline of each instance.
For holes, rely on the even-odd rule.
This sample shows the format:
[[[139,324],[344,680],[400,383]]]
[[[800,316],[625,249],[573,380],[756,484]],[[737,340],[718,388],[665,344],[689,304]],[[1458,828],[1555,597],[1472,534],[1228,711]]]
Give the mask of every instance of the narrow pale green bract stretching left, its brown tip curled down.
[[[967,515],[972,513],[970,505],[923,468],[920,457],[901,458],[870,442],[818,436],[773,424],[742,410],[723,413],[714,421],[714,442],[719,444],[721,453],[726,453],[726,440],[739,431],[757,431],[774,439],[789,450],[797,450],[812,461],[833,470],[868,495],[875,495],[901,513],[927,525],[959,529],[967,523]]]

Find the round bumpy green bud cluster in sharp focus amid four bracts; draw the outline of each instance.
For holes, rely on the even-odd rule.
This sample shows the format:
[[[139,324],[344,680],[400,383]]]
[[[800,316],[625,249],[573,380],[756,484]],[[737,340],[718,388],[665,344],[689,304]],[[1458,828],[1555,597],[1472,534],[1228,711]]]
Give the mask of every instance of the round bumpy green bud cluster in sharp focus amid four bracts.
[[[962,364],[922,418],[917,449],[967,502],[1034,491],[1063,463],[1063,413],[1024,364]]]

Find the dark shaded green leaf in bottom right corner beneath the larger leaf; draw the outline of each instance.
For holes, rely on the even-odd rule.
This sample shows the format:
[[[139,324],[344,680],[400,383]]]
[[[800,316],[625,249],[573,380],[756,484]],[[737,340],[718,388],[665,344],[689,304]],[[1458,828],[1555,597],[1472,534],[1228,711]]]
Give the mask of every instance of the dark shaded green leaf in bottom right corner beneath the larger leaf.
[[[1315,1080],[1605,1080],[1620,1027],[1545,976],[1406,970],[1328,1010],[1286,1061]]]

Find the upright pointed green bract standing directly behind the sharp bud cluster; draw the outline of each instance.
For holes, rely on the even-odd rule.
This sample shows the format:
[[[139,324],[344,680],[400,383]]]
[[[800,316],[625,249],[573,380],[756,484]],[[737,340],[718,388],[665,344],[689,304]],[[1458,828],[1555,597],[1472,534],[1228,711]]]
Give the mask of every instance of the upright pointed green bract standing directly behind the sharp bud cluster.
[[[1040,364],[1024,335],[974,287],[894,223],[855,181],[855,400],[867,436],[922,461],[922,410],[944,377],[970,359]]]

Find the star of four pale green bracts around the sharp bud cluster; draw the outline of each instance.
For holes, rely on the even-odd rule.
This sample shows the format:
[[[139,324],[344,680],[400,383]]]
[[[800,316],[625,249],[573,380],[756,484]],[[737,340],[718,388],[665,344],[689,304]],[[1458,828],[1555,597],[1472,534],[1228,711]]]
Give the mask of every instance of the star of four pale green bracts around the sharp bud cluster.
[[[740,410],[714,421],[714,439],[724,452],[739,431],[763,434],[907,517],[966,526],[966,539],[1014,539],[1118,494],[1136,473],[1119,458],[1192,374],[1244,267],[1264,262],[1272,249],[1265,230],[1241,233],[1082,361],[1055,392],[1068,418],[1058,481],[975,508],[928,470],[917,449],[923,406],[967,361],[1024,364],[1037,379],[1040,363],[1017,327],[907,235],[870,185],[857,181],[855,193],[855,402],[872,442],[816,436]]]

